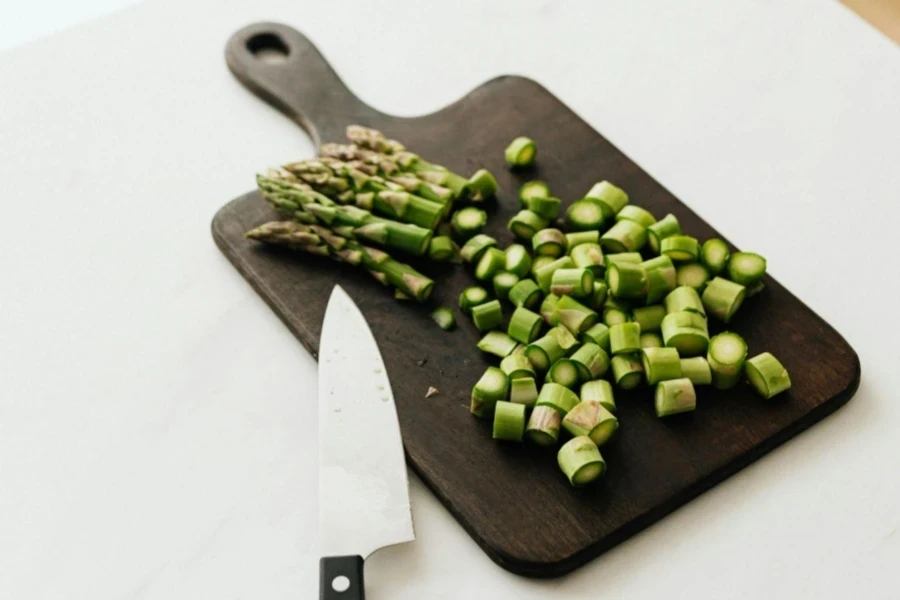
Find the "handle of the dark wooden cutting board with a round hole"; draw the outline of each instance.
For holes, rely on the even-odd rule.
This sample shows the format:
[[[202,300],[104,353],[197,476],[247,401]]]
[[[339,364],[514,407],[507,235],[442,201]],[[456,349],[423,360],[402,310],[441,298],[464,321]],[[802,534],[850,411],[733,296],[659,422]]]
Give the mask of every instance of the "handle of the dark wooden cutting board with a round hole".
[[[228,40],[225,60],[247,89],[306,130],[316,148],[379,114],[347,88],[309,38],[287,25],[244,27]]]

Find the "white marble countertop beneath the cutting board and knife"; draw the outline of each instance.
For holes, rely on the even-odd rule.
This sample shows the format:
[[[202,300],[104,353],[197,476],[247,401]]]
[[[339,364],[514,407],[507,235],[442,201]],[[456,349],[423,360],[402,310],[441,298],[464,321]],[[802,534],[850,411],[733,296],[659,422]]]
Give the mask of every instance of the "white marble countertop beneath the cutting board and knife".
[[[312,152],[225,68],[262,19],[404,115],[538,79],[863,365],[833,417],[563,579],[500,570],[413,480],[372,600],[897,598],[897,48],[814,0],[383,4],[149,0],[0,57],[0,598],[315,597],[315,365],[208,233]]]

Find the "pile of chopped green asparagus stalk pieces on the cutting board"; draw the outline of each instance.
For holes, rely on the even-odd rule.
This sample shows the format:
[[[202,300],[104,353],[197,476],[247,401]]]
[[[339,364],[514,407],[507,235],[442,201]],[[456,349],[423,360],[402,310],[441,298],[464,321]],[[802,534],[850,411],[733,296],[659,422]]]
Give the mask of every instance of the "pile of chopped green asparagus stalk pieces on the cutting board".
[[[536,154],[533,141],[517,138],[506,159],[528,168]],[[728,323],[762,291],[763,257],[731,253],[720,239],[701,244],[674,215],[657,221],[608,181],[568,207],[565,232],[554,226],[561,201],[545,183],[524,184],[519,198],[508,229],[520,243],[501,250],[478,235],[461,249],[484,287],[463,290],[460,309],[484,333],[478,347],[500,359],[470,406],[493,419],[494,438],[556,446],[563,430],[571,439],[557,461],[584,485],[606,471],[599,447],[619,427],[614,386],[656,386],[659,417],[695,410],[696,385],[724,390],[746,379],[767,399],[790,388],[770,353],[748,359],[740,335],[709,335],[707,319]]]

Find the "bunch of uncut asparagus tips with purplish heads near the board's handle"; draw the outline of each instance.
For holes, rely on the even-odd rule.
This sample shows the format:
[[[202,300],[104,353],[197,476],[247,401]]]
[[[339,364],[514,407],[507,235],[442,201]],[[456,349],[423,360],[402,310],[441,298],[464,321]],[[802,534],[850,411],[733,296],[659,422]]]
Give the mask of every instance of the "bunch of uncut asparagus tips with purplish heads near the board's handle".
[[[262,196],[290,220],[265,223],[247,237],[361,266],[398,297],[427,300],[434,281],[390,253],[452,260],[458,248],[435,229],[456,201],[480,202],[497,183],[485,170],[466,179],[374,129],[351,125],[347,138],[322,146],[317,159],[258,175]],[[472,213],[486,219],[473,207],[460,213],[454,223]]]

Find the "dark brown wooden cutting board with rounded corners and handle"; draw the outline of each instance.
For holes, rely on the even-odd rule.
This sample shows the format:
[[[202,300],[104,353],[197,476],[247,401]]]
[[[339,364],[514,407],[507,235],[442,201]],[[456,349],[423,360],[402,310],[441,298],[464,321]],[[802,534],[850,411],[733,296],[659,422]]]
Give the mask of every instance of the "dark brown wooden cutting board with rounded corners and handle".
[[[262,59],[273,50],[286,54],[283,62]],[[490,169],[501,194],[489,208],[486,232],[504,244],[512,241],[505,226],[518,210],[518,185],[532,178],[547,181],[567,203],[608,179],[658,217],[674,213],[691,235],[722,237],[534,81],[499,77],[443,110],[407,119],[363,104],[289,27],[247,27],[228,42],[226,55],[234,75],[316,145],[343,140],[344,128],[359,123],[456,172]],[[539,147],[538,168],[522,175],[503,164],[504,148],[518,135]],[[303,157],[284,157],[297,158]],[[252,182],[247,173],[248,187]],[[475,347],[480,336],[469,319],[457,311],[460,327],[444,332],[430,321],[429,307],[394,300],[362,271],[244,239],[274,217],[251,192],[219,211],[213,236],[313,356],[332,286],[347,290],[387,363],[409,464],[485,552],[515,573],[552,577],[584,564],[821,420],[859,385],[853,349],[767,276],[766,290],[744,304],[731,327],[751,355],[768,350],[781,359],[791,391],[765,402],[746,386],[728,392],[702,386],[696,412],[665,420],[654,416],[649,388],[617,392],[621,427],[602,449],[608,472],[593,487],[572,489],[554,452],[494,442],[490,423],[469,414],[471,387],[490,363]],[[778,272],[777,264],[770,268]],[[423,270],[438,281],[434,304],[455,309],[459,292],[474,283],[463,266]],[[425,399],[429,386],[440,395]]]

